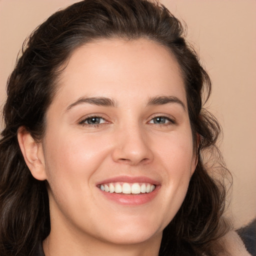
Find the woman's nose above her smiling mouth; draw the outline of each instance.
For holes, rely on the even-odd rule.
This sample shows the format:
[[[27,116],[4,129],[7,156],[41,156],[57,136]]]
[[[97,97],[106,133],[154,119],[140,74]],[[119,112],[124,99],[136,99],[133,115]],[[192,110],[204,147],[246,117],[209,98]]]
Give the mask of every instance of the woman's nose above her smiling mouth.
[[[115,162],[137,165],[153,160],[150,141],[138,125],[120,129],[115,133],[115,141],[112,151],[112,159]]]

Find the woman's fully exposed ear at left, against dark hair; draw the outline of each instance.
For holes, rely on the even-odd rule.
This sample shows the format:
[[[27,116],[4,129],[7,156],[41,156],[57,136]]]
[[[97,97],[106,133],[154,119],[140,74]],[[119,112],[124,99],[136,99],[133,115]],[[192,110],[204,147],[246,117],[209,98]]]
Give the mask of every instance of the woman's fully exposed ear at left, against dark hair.
[[[46,179],[44,155],[41,142],[35,142],[25,127],[18,128],[17,139],[27,167],[34,178]]]

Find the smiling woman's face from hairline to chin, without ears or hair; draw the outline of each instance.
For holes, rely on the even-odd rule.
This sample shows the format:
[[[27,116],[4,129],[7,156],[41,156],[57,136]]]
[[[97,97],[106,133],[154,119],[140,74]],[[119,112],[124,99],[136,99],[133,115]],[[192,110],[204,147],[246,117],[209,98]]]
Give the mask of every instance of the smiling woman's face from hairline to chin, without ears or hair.
[[[58,86],[42,140],[51,232],[160,238],[196,165],[176,60],[147,39],[102,39],[72,53]]]

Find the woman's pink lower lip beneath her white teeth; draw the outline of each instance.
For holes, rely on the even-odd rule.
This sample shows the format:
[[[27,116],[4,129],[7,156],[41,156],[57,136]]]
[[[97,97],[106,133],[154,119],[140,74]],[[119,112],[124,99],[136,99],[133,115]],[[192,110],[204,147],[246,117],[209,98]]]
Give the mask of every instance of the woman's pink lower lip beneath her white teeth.
[[[150,193],[139,193],[139,194],[120,194],[120,193],[109,193],[101,191],[101,193],[109,200],[115,201],[116,203],[123,205],[140,205],[153,200],[156,196],[160,185],[156,185],[155,189]]]

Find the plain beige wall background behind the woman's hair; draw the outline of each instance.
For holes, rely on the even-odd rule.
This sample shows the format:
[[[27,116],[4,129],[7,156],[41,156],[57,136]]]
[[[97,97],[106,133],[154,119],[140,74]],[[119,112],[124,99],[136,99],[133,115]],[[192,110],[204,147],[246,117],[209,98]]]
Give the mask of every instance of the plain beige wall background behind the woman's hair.
[[[0,0],[0,105],[26,36],[47,16],[77,0]],[[256,1],[161,0],[185,20],[188,40],[213,83],[210,110],[223,127],[220,144],[233,175],[235,226],[256,215]]]

